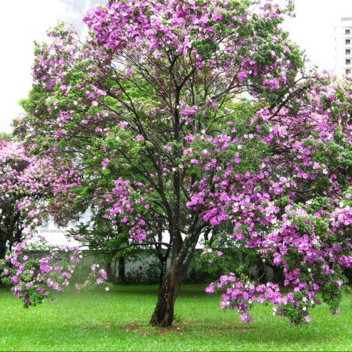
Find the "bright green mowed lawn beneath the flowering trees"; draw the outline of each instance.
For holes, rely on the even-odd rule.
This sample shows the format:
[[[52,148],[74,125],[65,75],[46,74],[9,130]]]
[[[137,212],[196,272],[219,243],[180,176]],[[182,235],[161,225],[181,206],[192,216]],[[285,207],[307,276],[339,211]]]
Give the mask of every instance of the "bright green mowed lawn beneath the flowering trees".
[[[174,327],[150,327],[156,286],[117,286],[106,291],[66,292],[56,302],[24,309],[0,289],[1,351],[352,351],[352,308],[345,295],[341,314],[326,305],[311,310],[308,328],[274,317],[256,305],[253,323],[222,311],[219,296],[204,286],[183,286]],[[198,291],[195,293],[195,291]]]

